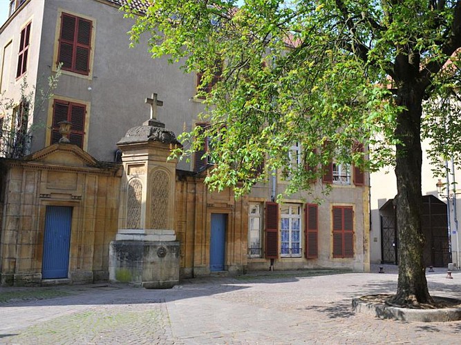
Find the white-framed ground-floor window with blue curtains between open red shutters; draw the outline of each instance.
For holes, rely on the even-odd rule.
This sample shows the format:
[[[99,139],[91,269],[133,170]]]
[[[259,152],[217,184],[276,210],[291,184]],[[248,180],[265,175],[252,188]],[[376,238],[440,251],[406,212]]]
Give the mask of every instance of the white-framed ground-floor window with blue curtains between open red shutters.
[[[283,204],[281,214],[281,257],[301,257],[301,205]]]

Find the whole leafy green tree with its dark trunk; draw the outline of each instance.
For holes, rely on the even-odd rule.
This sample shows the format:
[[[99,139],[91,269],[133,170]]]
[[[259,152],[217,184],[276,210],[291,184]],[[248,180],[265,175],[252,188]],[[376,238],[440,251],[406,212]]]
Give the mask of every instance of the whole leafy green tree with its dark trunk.
[[[449,99],[459,86],[461,1],[145,3],[144,15],[131,14],[133,43],[147,33],[153,57],[203,71],[202,86],[222,68],[203,95],[210,125],[182,135],[190,144],[186,153],[212,138],[209,186],[247,192],[264,177],[255,172],[265,160],[267,171],[290,175],[288,192],[308,188],[322,171],[290,166],[296,142],[306,166],[332,157],[370,170],[393,164],[400,240],[395,302],[430,300],[422,263],[421,141],[431,141],[436,160],[441,152],[460,162],[461,122],[447,111],[456,106]],[[351,150],[357,142],[369,147],[369,160]]]

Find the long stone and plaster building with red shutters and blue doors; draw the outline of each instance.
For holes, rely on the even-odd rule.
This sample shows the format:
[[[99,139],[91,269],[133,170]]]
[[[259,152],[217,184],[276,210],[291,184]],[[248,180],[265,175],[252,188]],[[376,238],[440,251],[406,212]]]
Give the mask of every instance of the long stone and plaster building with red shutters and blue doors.
[[[118,0],[19,1],[0,28],[0,92],[16,104],[15,109],[0,114],[0,147],[16,142],[16,133],[21,132],[30,135],[23,153],[35,152],[26,159],[5,160],[3,164],[6,192],[0,228],[2,282],[13,282],[15,275],[17,284],[28,282],[26,276],[19,279],[23,273],[35,281],[46,280],[41,275],[46,206],[61,204],[72,207],[68,270],[59,274],[70,282],[107,279],[109,243],[120,228],[138,228],[138,219],[153,221],[153,228],[174,230],[180,242],[182,277],[268,268],[368,270],[369,179],[368,174],[354,167],[332,164],[332,175],[317,181],[310,193],[301,191],[274,204],[274,198],[286,186],[277,174],[256,184],[250,195],[235,199],[232,190],[207,190],[203,180],[208,166],[200,154],[190,161],[178,162],[174,173],[162,168],[154,171],[150,181],[143,180],[138,167],[126,163],[128,156],[122,158],[125,160],[121,164],[117,143],[130,128],[148,119],[149,105],[145,102],[152,92],[163,104],[156,108],[158,119],[176,134],[200,125],[198,114],[204,106],[196,97],[198,75],[183,74],[178,65],[166,59],[151,59],[146,41],[128,48],[126,32],[133,22],[123,18],[119,6]],[[79,30],[81,37],[67,35]],[[53,97],[23,121],[20,110],[24,79],[30,86],[44,89],[46,77],[56,72],[59,62],[64,65]],[[36,101],[41,100],[36,97]],[[152,106],[152,101],[149,104]],[[39,152],[51,148],[68,157],[68,148],[57,149],[62,146],[57,144],[57,124],[63,119],[73,123],[72,155],[86,157],[86,163],[79,166],[80,170],[74,166],[75,159],[70,158],[60,161],[64,170],[53,170],[52,161],[32,164],[30,159],[45,157]],[[299,152],[301,148],[294,145],[293,157]],[[3,153],[8,154],[8,150]],[[64,186],[71,176],[64,173],[66,169],[80,171],[72,175],[77,176],[72,187]],[[48,193],[44,187],[48,182],[41,182],[48,170],[53,177],[50,181],[60,181],[59,193]],[[12,179],[12,175],[21,179]],[[165,194],[167,179],[169,188]],[[331,186],[330,193],[323,195],[327,185]],[[82,193],[74,195],[68,189],[74,186]],[[8,190],[16,190],[13,199]],[[34,206],[30,206],[28,190],[35,193]],[[131,217],[141,208],[133,202],[133,208],[127,210],[126,198],[141,203],[156,199],[156,203],[149,213]],[[323,200],[320,204],[319,199]],[[51,201],[57,204],[47,204]],[[31,208],[33,217],[29,216]],[[55,211],[59,210],[65,213],[64,209]],[[174,220],[158,217],[167,211],[174,213]],[[9,213],[24,218],[18,222]],[[23,231],[27,235],[21,235]]]

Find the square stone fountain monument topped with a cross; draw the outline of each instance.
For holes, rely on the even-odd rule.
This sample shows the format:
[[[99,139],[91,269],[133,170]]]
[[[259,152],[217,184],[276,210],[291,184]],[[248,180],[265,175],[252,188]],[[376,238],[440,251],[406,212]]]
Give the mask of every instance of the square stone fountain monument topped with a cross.
[[[173,230],[176,161],[179,146],[171,130],[157,120],[157,94],[146,99],[151,118],[126,132],[122,150],[119,230],[109,249],[109,279],[144,288],[171,288],[179,282],[179,242]]]

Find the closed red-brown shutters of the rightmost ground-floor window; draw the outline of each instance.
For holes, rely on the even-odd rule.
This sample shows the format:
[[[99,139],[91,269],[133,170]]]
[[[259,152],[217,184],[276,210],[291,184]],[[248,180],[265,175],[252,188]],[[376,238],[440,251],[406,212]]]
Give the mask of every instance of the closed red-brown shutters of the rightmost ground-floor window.
[[[333,257],[354,257],[352,206],[333,206]]]

